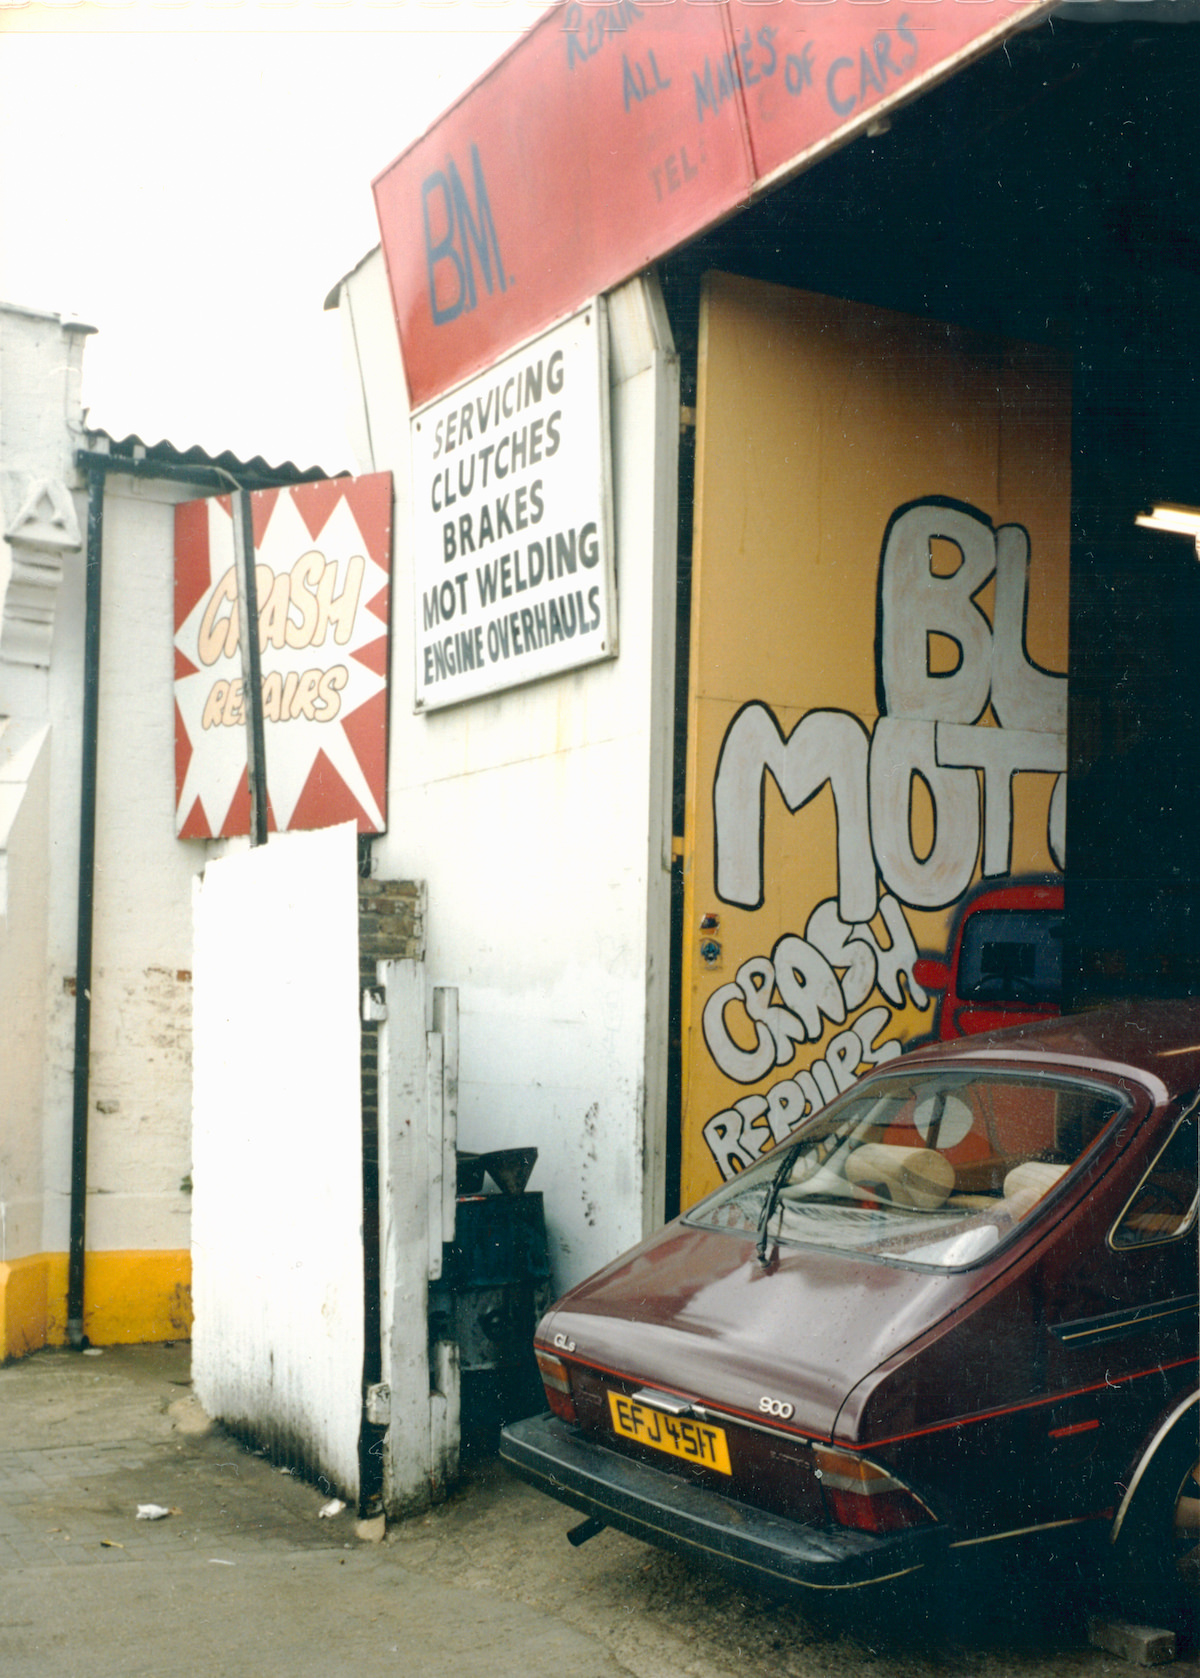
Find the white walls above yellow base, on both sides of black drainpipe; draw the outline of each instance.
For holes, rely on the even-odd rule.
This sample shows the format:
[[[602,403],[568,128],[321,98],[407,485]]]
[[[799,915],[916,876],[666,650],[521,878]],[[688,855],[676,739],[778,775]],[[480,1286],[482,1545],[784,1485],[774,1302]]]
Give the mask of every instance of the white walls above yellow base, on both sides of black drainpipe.
[[[84,331],[0,307],[0,502],[12,520],[27,487],[50,480],[74,505],[79,547],[35,602],[13,612],[13,547],[0,542],[0,742],[42,738],[25,775],[8,769],[0,920],[0,1257],[65,1252],[76,1024],[76,916],[84,671],[82,540],[87,497]],[[104,515],[101,735],[92,983],[87,1245],[188,1247],[191,1168],[191,879],[203,846],[175,839],[175,502],[196,492],[111,475]],[[0,753],[3,745],[0,743]],[[25,767],[22,767],[25,765]],[[18,775],[20,772],[20,775]],[[37,1168],[30,1163],[37,1161]],[[32,1203],[30,1203],[32,1196]]]

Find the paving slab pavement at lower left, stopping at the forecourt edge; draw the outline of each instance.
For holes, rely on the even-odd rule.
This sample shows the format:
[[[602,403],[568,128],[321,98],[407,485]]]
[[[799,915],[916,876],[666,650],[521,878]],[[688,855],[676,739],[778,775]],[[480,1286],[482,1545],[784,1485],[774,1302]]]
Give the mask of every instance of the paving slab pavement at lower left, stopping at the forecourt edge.
[[[321,1520],[327,1487],[190,1431],[188,1393],[186,1346],[0,1369],[3,1678],[623,1673],[554,1616],[359,1542],[351,1510]]]

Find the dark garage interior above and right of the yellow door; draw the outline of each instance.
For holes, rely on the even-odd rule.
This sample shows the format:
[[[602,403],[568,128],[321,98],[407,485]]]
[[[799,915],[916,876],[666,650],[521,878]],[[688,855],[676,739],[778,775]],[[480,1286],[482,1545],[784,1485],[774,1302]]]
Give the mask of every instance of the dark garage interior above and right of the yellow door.
[[[1072,367],[1064,1003],[1200,990],[1200,25],[1066,8],[661,263],[683,401],[702,275],[1046,344]],[[1076,17],[1118,15],[1119,22]],[[681,470],[686,604],[690,463]],[[686,653],[686,612],[680,651]],[[683,688],[680,691],[685,691]],[[681,810],[681,787],[676,805]]]

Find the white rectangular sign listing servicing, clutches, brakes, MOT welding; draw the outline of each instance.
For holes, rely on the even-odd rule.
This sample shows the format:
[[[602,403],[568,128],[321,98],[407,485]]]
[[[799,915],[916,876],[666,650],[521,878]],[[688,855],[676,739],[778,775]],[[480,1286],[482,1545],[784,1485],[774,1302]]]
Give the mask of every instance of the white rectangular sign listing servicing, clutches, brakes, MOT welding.
[[[416,710],[616,656],[603,302],[413,418]]]

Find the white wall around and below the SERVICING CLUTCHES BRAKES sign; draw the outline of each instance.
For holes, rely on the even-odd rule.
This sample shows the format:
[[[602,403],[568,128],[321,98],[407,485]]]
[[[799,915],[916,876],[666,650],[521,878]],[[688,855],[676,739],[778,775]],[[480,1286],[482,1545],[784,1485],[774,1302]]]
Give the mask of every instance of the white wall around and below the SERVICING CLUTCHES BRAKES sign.
[[[383,258],[341,287],[349,435],[396,475],[384,878],[428,883],[462,1012],[460,1144],[539,1148],[561,1285],[661,1217],[678,369],[656,287],[611,297],[619,658],[413,715],[408,406]]]

